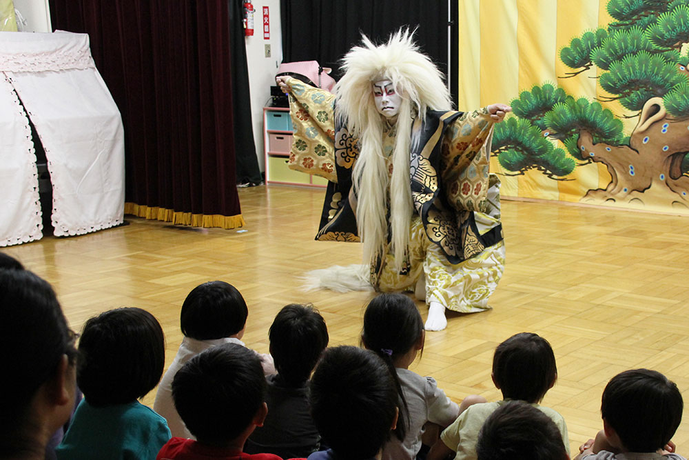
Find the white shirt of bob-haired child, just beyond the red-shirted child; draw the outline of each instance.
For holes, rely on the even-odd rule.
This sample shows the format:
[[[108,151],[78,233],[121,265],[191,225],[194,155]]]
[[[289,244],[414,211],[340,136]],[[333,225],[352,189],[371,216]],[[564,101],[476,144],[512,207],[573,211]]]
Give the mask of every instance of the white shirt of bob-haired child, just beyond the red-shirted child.
[[[160,385],[158,385],[158,392],[156,392],[156,400],[153,403],[153,410],[158,412],[167,420],[167,426],[172,432],[173,437],[196,439],[192,433],[187,430],[182,419],[179,417],[177,410],[174,408],[174,401],[172,400],[172,379],[182,366],[192,359],[200,352],[212,348],[214,346],[223,345],[223,343],[236,343],[237,345],[245,347],[245,343],[234,337],[225,337],[223,339],[213,340],[196,340],[190,337],[184,337],[180,343],[177,354],[172,360],[172,364],[165,371]],[[266,375],[275,374],[275,366],[273,357],[270,354],[258,354],[263,365],[263,372]]]

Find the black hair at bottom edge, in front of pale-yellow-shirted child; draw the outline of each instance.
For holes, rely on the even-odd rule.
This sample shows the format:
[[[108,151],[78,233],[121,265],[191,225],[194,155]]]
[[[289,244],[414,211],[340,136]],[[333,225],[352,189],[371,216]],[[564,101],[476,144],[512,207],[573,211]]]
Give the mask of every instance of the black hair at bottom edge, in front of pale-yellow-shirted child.
[[[524,401],[507,401],[486,419],[476,454],[477,460],[569,458],[555,422]]]

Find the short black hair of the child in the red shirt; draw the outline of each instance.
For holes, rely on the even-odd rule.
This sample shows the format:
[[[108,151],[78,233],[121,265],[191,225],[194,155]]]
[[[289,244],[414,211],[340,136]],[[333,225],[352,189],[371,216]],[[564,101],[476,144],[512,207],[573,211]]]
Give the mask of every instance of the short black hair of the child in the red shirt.
[[[174,406],[201,443],[226,446],[249,426],[265,401],[258,355],[224,343],[196,355],[172,380]]]

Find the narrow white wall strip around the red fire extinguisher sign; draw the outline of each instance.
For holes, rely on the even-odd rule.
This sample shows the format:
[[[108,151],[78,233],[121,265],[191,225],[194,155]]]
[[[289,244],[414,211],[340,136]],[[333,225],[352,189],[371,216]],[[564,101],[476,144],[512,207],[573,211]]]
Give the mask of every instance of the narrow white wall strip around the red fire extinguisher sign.
[[[251,91],[251,120],[254,123],[256,155],[260,170],[265,171],[263,157],[263,107],[270,99],[270,87],[282,62],[282,28],[280,27],[280,0],[254,0],[254,35],[245,37],[249,91]],[[268,7],[270,39],[263,38],[263,7]],[[270,44],[271,57],[265,57],[265,45]]]

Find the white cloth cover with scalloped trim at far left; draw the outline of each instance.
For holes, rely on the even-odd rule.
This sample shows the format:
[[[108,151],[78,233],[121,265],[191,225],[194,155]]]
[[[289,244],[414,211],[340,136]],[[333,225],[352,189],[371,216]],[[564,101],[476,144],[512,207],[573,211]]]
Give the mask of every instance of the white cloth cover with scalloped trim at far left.
[[[48,159],[54,234],[122,223],[122,120],[88,35],[0,32],[0,72],[0,246],[43,236],[27,114]]]

